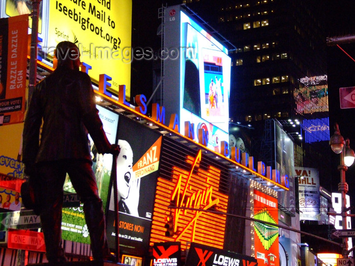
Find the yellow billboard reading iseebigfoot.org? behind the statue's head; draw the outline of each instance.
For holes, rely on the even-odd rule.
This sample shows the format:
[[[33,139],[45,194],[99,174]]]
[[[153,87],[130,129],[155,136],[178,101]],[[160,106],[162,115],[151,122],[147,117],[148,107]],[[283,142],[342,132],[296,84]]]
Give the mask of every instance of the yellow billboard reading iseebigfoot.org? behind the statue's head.
[[[48,54],[61,41],[76,43],[91,79],[109,76],[112,91],[126,85],[129,99],[132,1],[50,1],[48,9]]]

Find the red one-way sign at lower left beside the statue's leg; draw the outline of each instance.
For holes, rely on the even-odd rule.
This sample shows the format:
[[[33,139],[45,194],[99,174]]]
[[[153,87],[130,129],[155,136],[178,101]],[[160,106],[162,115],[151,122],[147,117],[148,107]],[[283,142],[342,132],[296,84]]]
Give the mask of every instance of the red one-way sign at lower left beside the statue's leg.
[[[28,230],[9,230],[8,248],[46,252],[43,233]]]

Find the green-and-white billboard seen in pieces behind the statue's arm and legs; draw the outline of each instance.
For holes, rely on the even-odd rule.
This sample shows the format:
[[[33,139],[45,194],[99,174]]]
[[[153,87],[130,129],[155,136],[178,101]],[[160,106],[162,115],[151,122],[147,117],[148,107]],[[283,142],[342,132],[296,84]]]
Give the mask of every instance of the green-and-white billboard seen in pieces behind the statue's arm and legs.
[[[116,142],[116,133],[119,116],[104,107],[96,105],[99,110],[99,117],[102,121],[103,130],[110,143]],[[110,176],[112,169],[112,155],[99,154],[89,135],[89,142],[92,158],[92,169],[94,170],[99,196],[102,199],[103,209],[106,209],[109,195]],[[67,175],[64,182],[64,191],[75,193],[75,189]],[[63,208],[62,211],[62,238],[65,240],[90,243],[87,225],[85,222],[82,205],[80,207]]]

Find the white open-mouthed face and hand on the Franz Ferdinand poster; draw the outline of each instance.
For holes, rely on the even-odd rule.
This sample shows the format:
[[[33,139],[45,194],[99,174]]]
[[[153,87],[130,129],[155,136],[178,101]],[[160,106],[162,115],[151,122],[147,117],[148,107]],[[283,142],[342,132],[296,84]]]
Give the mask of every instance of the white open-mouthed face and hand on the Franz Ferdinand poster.
[[[119,211],[139,217],[140,178],[133,174],[133,151],[126,140],[119,139],[121,152],[117,157],[117,190]],[[111,191],[110,210],[114,210],[114,193]]]

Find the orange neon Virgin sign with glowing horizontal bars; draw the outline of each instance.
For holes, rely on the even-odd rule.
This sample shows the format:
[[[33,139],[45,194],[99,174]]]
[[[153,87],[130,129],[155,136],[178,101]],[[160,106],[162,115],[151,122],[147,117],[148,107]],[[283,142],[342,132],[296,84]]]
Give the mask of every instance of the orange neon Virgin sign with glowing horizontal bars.
[[[201,150],[195,158],[188,156],[190,170],[172,167],[171,180],[158,177],[151,232],[151,245],[163,241],[180,241],[182,249],[196,242],[223,248],[226,216],[208,212],[179,209],[179,207],[227,212],[228,196],[219,191],[221,170],[209,166],[200,168]],[[165,237],[164,219],[169,205],[178,207],[174,216],[174,236]]]

